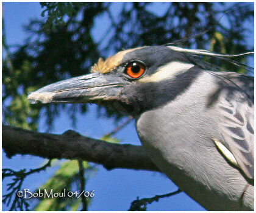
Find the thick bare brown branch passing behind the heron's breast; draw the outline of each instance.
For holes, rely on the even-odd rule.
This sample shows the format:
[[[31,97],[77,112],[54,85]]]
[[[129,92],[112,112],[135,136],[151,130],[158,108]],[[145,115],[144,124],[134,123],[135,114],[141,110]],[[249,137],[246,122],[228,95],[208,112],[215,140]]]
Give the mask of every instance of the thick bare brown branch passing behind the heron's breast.
[[[123,168],[159,172],[141,146],[112,144],[81,136],[72,130],[49,134],[2,125],[2,148],[9,157],[27,154],[49,159],[82,159],[102,164],[108,170]]]

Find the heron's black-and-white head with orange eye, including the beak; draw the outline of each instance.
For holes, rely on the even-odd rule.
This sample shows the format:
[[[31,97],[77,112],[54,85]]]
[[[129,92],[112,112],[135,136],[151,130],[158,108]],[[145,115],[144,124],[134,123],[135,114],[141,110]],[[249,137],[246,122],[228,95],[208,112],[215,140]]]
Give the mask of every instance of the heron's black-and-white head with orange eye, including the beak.
[[[44,86],[28,98],[43,103],[110,105],[135,116],[182,93],[193,80],[194,66],[171,47],[137,47],[100,58],[91,74]]]

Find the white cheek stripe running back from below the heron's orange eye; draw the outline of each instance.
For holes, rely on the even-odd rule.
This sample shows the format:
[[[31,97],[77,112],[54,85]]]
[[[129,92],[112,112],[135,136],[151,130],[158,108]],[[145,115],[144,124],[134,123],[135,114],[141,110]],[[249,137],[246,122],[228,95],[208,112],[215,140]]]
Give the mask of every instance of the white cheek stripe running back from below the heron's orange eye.
[[[166,65],[160,66],[154,74],[139,79],[138,82],[160,82],[162,80],[171,79],[177,74],[188,71],[188,69],[193,66],[194,65],[190,63],[171,61]]]

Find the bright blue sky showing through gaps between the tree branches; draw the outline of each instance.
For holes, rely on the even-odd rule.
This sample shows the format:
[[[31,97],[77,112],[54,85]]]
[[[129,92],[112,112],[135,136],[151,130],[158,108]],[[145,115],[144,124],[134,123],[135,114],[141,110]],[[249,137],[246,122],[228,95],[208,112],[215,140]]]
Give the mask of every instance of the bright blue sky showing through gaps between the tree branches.
[[[118,5],[115,9],[118,9]],[[113,9],[113,10],[115,10]],[[164,4],[155,4],[152,10],[158,13],[163,12]],[[27,38],[27,33],[23,26],[29,23],[30,19],[42,18],[42,9],[38,2],[4,2],[3,15],[5,22],[5,32],[7,44],[22,44]],[[104,30],[107,29],[107,23],[104,23],[104,16],[99,18],[99,27],[94,27],[93,35],[95,40],[100,40]],[[103,27],[103,28],[102,28]],[[249,40],[253,41],[253,33]],[[253,63],[253,62],[251,62]],[[251,66],[253,66],[251,64]],[[121,122],[120,122],[121,123]],[[45,120],[42,118],[39,122],[38,131],[46,131]],[[88,106],[88,113],[77,116],[77,127],[72,127],[72,122],[65,112],[54,120],[54,130],[52,133],[61,134],[66,130],[73,129],[80,134],[99,139],[104,134],[115,128],[113,119],[98,118],[96,105]],[[122,143],[140,145],[140,141],[135,130],[134,121],[130,122],[123,130],[119,131],[116,138],[121,139]],[[41,166],[46,160],[30,155],[16,155],[12,159],[7,159],[2,154],[2,167],[14,170],[32,169]],[[29,176],[24,181],[23,187],[34,190],[45,183],[46,180],[55,172],[57,168],[47,169],[45,172]],[[133,171],[127,169],[105,170],[98,166],[98,172],[87,182],[86,190],[94,190],[94,198],[89,206],[89,211],[127,211],[130,203],[137,197],[153,197],[172,192],[177,189],[168,178],[163,174],[147,171]],[[6,183],[3,182],[2,194],[6,192]],[[2,210],[8,208],[3,205]],[[183,192],[170,198],[160,199],[148,205],[148,211],[202,211],[199,204],[185,195]]]

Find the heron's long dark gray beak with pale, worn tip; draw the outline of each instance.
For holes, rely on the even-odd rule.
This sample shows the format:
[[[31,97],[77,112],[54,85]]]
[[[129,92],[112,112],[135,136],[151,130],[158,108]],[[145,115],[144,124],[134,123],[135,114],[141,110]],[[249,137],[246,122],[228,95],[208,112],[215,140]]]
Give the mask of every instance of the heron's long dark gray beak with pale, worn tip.
[[[29,94],[32,102],[88,103],[95,100],[116,100],[127,82],[122,77],[108,73],[82,75],[63,80]]]

